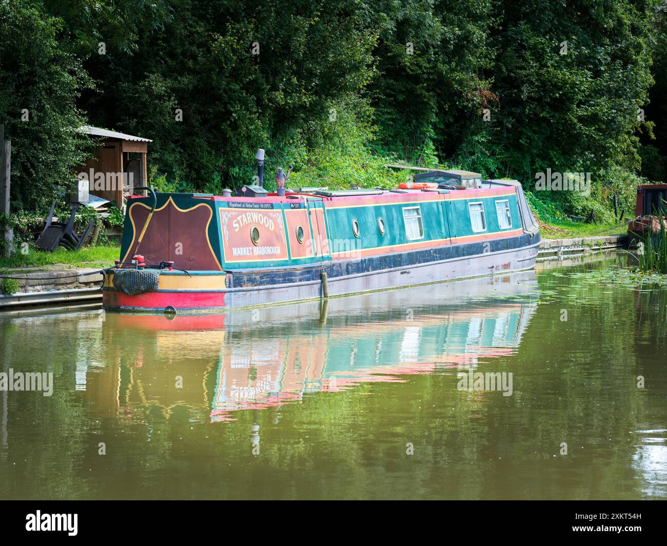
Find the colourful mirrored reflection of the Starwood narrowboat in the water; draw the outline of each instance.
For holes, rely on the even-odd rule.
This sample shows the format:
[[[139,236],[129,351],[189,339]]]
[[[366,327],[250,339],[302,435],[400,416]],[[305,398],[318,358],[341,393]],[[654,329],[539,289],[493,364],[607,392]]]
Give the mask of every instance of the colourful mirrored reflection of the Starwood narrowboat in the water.
[[[109,365],[87,372],[105,415],[193,421],[361,382],[512,354],[537,306],[534,271],[211,316],[107,313]]]

